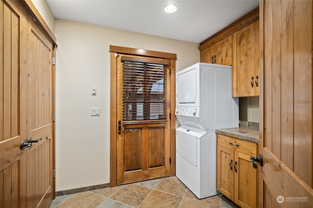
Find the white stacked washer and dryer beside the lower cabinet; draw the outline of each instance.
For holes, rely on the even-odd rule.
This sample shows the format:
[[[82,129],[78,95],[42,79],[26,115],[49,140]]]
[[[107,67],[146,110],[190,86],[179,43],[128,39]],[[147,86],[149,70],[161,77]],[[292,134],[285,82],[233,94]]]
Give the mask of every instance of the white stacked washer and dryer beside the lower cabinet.
[[[176,73],[176,176],[198,198],[216,190],[216,135],[239,127],[231,66],[196,63]]]

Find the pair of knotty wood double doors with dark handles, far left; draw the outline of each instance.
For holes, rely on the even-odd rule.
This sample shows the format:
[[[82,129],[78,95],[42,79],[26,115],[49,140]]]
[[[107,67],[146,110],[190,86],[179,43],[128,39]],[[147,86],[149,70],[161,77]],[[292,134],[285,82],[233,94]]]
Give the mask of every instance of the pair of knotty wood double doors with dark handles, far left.
[[[1,0],[0,16],[0,207],[48,207],[54,44],[20,1]]]

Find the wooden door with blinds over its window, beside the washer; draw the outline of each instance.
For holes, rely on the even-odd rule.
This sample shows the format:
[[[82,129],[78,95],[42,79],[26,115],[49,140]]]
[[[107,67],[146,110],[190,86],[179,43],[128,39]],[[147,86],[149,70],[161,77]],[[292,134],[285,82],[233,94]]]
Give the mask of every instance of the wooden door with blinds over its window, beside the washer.
[[[123,58],[134,60],[128,67],[132,68],[129,70],[134,70],[134,73],[126,73],[124,69],[126,62],[122,62]],[[164,87],[161,87],[162,89],[158,92],[154,91],[157,83],[151,81],[152,76],[150,76],[154,74],[155,69],[148,68],[146,65],[143,68],[137,68],[139,66],[138,61],[140,65],[143,65],[143,62],[158,63],[159,60],[128,55],[117,57],[116,95],[117,123],[119,125],[117,133],[117,184],[168,176],[171,173],[171,136],[169,113],[167,112],[171,93],[170,81],[165,78],[169,76],[169,66],[164,67]],[[149,74],[150,78],[146,77],[145,73]],[[127,77],[128,81],[126,81]],[[128,84],[125,84],[126,82]],[[161,108],[161,113],[156,113],[156,119],[152,116],[152,112],[156,110],[153,96],[164,96],[166,101],[164,103],[166,105],[164,106],[165,112],[163,112],[164,107],[157,107]],[[143,97],[146,97],[146,102]]]

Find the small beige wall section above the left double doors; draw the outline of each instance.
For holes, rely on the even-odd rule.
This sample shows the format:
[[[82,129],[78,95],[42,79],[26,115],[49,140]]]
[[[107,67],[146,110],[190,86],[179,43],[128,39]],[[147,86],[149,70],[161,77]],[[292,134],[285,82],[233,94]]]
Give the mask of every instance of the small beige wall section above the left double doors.
[[[50,7],[48,6],[47,2],[45,0],[31,0],[40,13],[40,15],[43,17],[45,20],[45,23],[48,25],[52,33],[54,34],[55,32],[55,18],[54,15],[52,14]]]

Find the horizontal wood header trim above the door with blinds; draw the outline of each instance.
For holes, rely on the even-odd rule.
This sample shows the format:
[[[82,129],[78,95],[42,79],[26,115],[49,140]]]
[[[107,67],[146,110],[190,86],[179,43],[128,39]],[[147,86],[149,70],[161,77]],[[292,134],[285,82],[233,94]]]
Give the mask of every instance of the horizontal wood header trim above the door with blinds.
[[[110,52],[144,57],[177,59],[176,54],[110,45]]]

